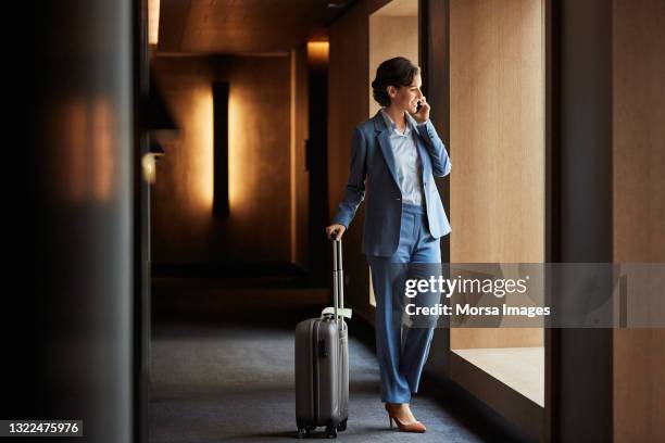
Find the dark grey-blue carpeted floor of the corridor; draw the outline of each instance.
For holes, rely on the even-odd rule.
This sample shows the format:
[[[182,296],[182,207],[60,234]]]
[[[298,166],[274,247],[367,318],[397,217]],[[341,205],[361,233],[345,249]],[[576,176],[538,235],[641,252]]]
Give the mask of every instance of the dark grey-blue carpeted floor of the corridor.
[[[294,325],[290,319],[271,321],[249,316],[189,324],[171,320],[153,326],[150,442],[294,440]],[[353,330],[353,322],[350,327]],[[475,433],[425,395],[414,397],[412,408],[428,427],[427,433],[389,430],[379,401],[374,353],[353,337],[350,362],[349,428],[338,440],[505,441],[494,439],[497,434],[488,438],[491,433],[487,429]],[[323,438],[323,429],[314,436]]]

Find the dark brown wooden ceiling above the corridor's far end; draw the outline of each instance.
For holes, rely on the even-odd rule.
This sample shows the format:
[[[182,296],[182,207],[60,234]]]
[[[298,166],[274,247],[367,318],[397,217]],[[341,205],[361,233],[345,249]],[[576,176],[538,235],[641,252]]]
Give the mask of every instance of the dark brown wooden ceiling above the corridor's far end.
[[[158,53],[277,53],[325,36],[353,0],[161,0]]]

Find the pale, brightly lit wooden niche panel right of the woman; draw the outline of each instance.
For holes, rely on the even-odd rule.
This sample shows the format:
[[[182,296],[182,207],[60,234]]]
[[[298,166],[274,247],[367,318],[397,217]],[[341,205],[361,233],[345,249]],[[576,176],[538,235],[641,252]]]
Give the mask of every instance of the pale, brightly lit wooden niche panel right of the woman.
[[[542,2],[450,1],[451,262],[544,260]],[[542,345],[453,329],[451,347]]]

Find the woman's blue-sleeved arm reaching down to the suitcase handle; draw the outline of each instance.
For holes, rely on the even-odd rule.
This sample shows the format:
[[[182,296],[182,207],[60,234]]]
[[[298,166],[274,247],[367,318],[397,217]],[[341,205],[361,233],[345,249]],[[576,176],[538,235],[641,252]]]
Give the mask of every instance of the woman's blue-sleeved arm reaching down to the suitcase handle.
[[[326,228],[326,235],[329,237],[335,225],[341,225],[343,229],[338,233],[338,238],[346,229],[349,228],[351,220],[355,215],[357,206],[365,198],[365,177],[367,176],[367,141],[362,130],[356,127],[351,138],[351,170],[349,180],[344,188],[344,194],[339,203],[337,214],[332,218],[332,225]],[[339,229],[339,227],[337,227]]]

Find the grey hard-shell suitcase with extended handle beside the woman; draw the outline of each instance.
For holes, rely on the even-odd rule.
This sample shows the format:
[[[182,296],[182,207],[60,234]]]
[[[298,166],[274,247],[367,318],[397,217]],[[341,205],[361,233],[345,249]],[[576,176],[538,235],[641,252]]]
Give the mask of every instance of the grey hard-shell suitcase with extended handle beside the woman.
[[[326,427],[328,438],[347,429],[349,336],[343,309],[341,240],[332,240],[334,308],[296,327],[296,422],[298,438]],[[347,314],[350,317],[350,314]]]

